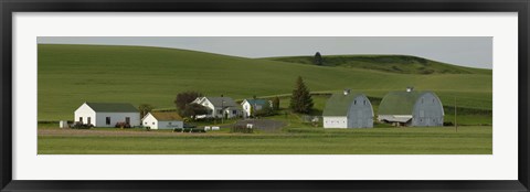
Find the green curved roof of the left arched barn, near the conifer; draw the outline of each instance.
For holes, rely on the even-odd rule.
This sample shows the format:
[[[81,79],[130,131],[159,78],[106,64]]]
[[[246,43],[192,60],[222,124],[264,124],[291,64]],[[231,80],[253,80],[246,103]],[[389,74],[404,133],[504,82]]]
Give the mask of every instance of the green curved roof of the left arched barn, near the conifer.
[[[326,102],[322,116],[347,116],[351,103],[359,95],[363,94],[350,92],[348,95],[344,95],[343,93],[331,95],[331,97],[328,98],[328,102]]]

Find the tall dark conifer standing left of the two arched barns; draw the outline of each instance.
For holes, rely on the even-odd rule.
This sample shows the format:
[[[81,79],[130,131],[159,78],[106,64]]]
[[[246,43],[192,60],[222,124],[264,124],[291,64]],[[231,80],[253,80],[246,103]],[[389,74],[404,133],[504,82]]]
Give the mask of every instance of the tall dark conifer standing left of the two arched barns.
[[[311,94],[301,77],[298,76],[293,96],[290,96],[289,108],[295,113],[308,114],[311,111],[312,105]]]

